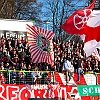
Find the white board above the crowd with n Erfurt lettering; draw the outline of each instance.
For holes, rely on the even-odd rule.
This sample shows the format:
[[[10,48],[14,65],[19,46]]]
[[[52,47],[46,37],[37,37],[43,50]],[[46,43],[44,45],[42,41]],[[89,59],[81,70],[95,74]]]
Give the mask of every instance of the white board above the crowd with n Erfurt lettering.
[[[33,25],[28,20],[0,19],[0,37],[26,39],[26,24]]]

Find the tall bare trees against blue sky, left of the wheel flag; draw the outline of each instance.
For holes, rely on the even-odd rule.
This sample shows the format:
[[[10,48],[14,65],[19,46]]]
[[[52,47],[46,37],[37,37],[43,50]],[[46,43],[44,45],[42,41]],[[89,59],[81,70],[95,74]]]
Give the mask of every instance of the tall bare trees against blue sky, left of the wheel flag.
[[[64,34],[61,25],[74,11],[85,6],[88,6],[88,0],[46,0],[44,16],[50,20],[51,28],[56,37],[64,40],[69,36]]]

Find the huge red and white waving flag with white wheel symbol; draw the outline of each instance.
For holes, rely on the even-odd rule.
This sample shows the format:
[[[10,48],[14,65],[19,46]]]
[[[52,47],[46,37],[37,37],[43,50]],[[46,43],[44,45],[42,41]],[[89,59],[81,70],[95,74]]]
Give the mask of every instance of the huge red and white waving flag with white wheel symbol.
[[[69,34],[79,34],[84,38],[84,51],[87,57],[96,48],[100,48],[100,11],[93,10],[95,2],[96,0],[87,8],[76,11],[62,25],[62,29]]]

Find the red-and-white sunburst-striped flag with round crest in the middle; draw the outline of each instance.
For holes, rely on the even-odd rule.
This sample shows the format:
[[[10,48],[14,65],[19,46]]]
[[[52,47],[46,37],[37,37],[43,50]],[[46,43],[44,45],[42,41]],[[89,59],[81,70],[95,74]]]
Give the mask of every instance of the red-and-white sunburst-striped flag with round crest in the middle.
[[[52,39],[54,33],[36,26],[27,25],[26,27],[32,62],[46,62],[53,65],[54,52]]]

